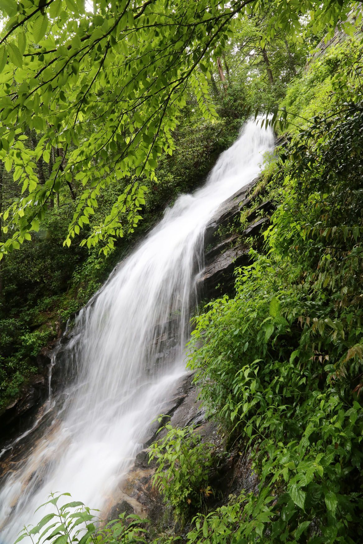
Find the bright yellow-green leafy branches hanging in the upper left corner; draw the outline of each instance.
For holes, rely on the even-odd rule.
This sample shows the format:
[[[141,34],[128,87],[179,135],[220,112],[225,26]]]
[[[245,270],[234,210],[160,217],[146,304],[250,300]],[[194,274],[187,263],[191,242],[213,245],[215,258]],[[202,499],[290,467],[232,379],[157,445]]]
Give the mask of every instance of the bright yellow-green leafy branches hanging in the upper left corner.
[[[36,160],[42,157],[53,163],[52,148],[63,150],[65,158],[61,168],[59,161],[52,164],[42,187],[32,153],[24,154],[22,166],[6,159],[9,171],[14,166],[14,181],[21,184],[24,195],[20,213],[25,217],[20,220],[14,208],[12,221],[24,229],[39,219],[52,194],[82,172],[84,191],[93,188],[96,196],[115,178],[135,188],[126,189],[84,243],[93,246],[101,241],[110,249],[115,237],[125,230],[132,232],[144,203],[143,194],[138,194],[139,180],[157,182],[158,157],[173,153],[176,118],[186,103],[183,92],[198,65],[202,72],[192,81],[198,103],[207,118],[216,116],[208,101],[208,61],[202,57],[217,44],[217,29],[226,31],[230,15],[228,10],[223,13],[221,24],[222,6],[216,3],[208,17],[205,7],[206,0],[197,10],[182,2],[178,13],[173,5],[165,13],[164,4],[132,10],[120,0],[107,13],[95,3],[94,13],[82,15],[84,2],[54,0],[45,10],[33,6],[34,13],[30,7],[24,11],[22,16],[29,15],[29,21],[20,24],[15,39],[11,36],[0,50],[0,67],[9,55],[13,68],[6,76],[8,84],[13,77],[17,82],[11,98],[6,87],[0,93],[0,104],[5,106],[2,126],[16,123],[21,133],[29,128],[38,133]],[[182,11],[184,24],[179,26]],[[211,39],[213,32],[216,36]],[[87,123],[92,127],[89,134],[83,129]],[[4,140],[4,149],[7,145]],[[74,227],[87,227],[93,215],[92,206],[85,206],[89,193],[81,191],[78,196],[66,245],[76,234]]]

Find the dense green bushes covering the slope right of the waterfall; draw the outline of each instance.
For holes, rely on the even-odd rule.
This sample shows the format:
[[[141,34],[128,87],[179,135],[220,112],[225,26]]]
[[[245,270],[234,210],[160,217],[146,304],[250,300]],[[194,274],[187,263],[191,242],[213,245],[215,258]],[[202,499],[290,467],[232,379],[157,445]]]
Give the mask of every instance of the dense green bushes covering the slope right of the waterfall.
[[[284,149],[264,195],[277,206],[268,257],[251,251],[235,298],[195,319],[201,399],[259,475],[238,529],[227,525],[236,542],[362,537],[362,125],[363,104],[334,106]],[[266,490],[275,499],[263,502]],[[198,521],[190,534],[204,542]]]

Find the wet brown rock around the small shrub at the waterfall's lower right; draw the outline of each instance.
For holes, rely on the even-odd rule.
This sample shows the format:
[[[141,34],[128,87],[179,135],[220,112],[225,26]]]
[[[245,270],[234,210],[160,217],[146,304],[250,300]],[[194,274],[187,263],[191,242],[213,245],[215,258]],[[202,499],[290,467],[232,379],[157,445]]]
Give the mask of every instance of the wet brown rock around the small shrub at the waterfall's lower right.
[[[217,492],[208,499],[211,509],[225,504],[230,494],[236,496],[244,489],[247,493],[258,491],[258,479],[251,468],[248,452],[240,452],[235,447],[229,454],[223,454],[223,429],[213,421],[207,421],[205,411],[198,401],[198,390],[193,384],[193,374],[186,374],[177,384],[174,395],[170,400],[170,423],[183,428],[194,425],[195,432],[201,435],[202,441],[216,444],[220,454],[218,468],[211,474],[210,485]],[[173,405],[174,403],[174,405]],[[156,436],[157,428],[150,443],[162,437],[164,431]],[[219,446],[218,446],[219,444]],[[110,510],[108,519],[117,517],[121,512],[137,514],[147,518],[152,527],[162,527],[171,530],[174,520],[170,508],[164,504],[163,497],[152,486],[155,474],[155,461],[149,463],[149,448],[141,450],[135,459],[134,466],[119,485],[119,502]]]

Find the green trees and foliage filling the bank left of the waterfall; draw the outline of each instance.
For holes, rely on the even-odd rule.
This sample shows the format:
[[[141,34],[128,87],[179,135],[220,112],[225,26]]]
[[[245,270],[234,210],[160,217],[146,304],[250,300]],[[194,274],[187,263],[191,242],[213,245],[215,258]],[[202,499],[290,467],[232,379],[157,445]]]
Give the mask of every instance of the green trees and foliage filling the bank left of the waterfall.
[[[29,375],[42,372],[41,348],[55,341],[66,320],[96,292],[130,244],[155,223],[178,193],[201,183],[218,153],[232,143],[249,112],[263,102],[279,102],[284,85],[303,69],[308,53],[300,40],[300,34],[308,34],[307,28],[301,28],[295,12],[290,20],[282,5],[275,13],[274,3],[269,3],[267,9],[267,4],[261,6],[259,2],[236,2],[232,10],[236,13],[232,15],[223,2],[198,2],[193,14],[188,2],[167,2],[165,8],[163,2],[146,2],[139,7],[136,3],[114,2],[113,10],[106,9],[106,3],[96,2],[93,10],[87,4],[87,10],[80,13],[81,4],[54,0],[38,8],[30,1],[18,3],[17,7],[13,2],[0,6],[0,246],[1,252],[6,252],[0,261],[0,410],[19,394]],[[305,2],[299,9],[306,11],[314,6],[313,2]],[[126,10],[128,16],[122,16],[114,27],[119,13],[116,8]],[[314,30],[316,35],[309,31],[309,44],[319,39],[327,17],[344,19],[348,9],[348,4],[339,9],[328,4],[319,7],[316,24],[320,29]],[[157,16],[160,11],[162,17]],[[131,13],[136,17],[133,26]],[[211,14],[209,18],[206,13]],[[161,81],[159,65],[164,66],[167,58],[171,72],[165,72],[165,77],[169,79],[173,77],[174,61],[178,73],[184,64],[193,61],[194,65],[213,24],[230,16],[233,37],[227,25],[213,38],[203,60],[195,65],[180,90],[185,104],[176,108],[174,103],[175,119],[170,108],[163,113],[159,118],[160,133],[154,131],[157,139],[155,143],[149,141],[147,131],[154,121],[139,126],[137,116],[142,118],[143,112],[149,112],[149,100],[163,107],[171,80],[168,89],[155,92],[153,98],[144,83],[149,81],[151,88],[157,89]],[[169,26],[163,17],[168,18]],[[183,21],[188,17],[192,18],[188,23],[190,35],[183,31]],[[141,22],[147,21],[144,27]],[[201,34],[194,36],[197,21],[202,39]],[[297,25],[299,39],[290,32],[292,22]],[[180,25],[184,41],[176,48],[174,28]],[[154,41],[150,40],[150,32],[155,33]],[[261,36],[265,36],[262,43]],[[198,54],[185,49],[188,40],[192,40]],[[100,50],[105,54],[108,41],[100,69]],[[164,47],[163,54],[162,49],[158,52],[157,43]],[[181,50],[183,54],[179,55]],[[221,57],[217,57],[219,54]],[[217,64],[216,58],[222,64]],[[267,75],[266,59],[273,85]],[[57,66],[63,65],[65,68],[58,74]],[[97,76],[88,71],[90,65],[96,72],[100,69]],[[53,76],[48,83],[47,77]],[[39,82],[36,88],[35,81]],[[130,81],[128,91],[122,89],[122,103],[114,92],[121,81]],[[85,94],[85,82],[92,85],[83,100],[80,93]],[[25,99],[26,92],[31,96]],[[135,96],[130,98],[129,92]],[[142,102],[144,99],[146,102]],[[128,113],[124,112],[125,103],[131,108]],[[118,125],[119,118],[122,122]],[[173,149],[165,151],[158,138],[164,141],[168,129],[163,123],[168,122],[174,123],[170,131]],[[107,134],[116,126],[108,142]],[[103,140],[108,142],[106,146],[101,144]],[[91,143],[96,141],[94,145],[102,149],[94,154]],[[125,160],[133,163],[136,152],[139,160],[151,149],[153,174],[146,167],[142,174],[136,165],[126,168],[120,157],[120,153],[126,153]],[[89,160],[82,159],[81,165],[77,157],[83,153]],[[110,169],[115,162],[118,173]],[[145,192],[137,198],[136,187],[140,184]],[[127,194],[127,188],[134,191],[133,196]],[[90,197],[85,198],[89,189],[93,189]],[[130,224],[134,217],[130,206],[120,211],[129,197],[131,208],[142,208],[137,209],[135,232],[131,232],[135,228]],[[89,243],[80,245],[86,239]],[[91,239],[98,239],[98,243],[94,246]],[[73,243],[68,247],[70,240]]]

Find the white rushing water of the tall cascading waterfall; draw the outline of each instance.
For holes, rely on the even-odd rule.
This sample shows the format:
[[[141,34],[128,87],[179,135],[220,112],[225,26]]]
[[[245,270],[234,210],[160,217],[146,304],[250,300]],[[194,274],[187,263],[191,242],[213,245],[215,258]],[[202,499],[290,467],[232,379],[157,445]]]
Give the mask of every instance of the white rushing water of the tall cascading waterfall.
[[[249,121],[204,187],[180,196],[79,314],[67,356],[77,379],[58,415],[0,492],[0,542],[11,544],[51,491],[92,508],[109,500],[184,372],[204,232],[220,204],[259,174],[273,134]],[[165,343],[165,339],[169,343]],[[171,346],[171,348],[170,348]],[[25,542],[25,541],[23,541]]]

